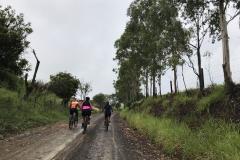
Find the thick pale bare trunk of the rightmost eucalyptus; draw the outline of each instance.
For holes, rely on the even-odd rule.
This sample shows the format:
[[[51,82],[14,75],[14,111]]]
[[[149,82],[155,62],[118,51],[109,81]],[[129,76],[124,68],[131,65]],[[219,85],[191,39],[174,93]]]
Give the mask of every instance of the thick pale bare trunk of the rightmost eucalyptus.
[[[222,36],[222,50],[223,50],[223,73],[224,82],[227,88],[230,88],[233,84],[232,73],[230,68],[230,53],[229,53],[229,41],[228,41],[228,30],[227,21],[224,9],[224,0],[219,2],[219,12],[220,12],[220,26],[221,26],[221,36]]]

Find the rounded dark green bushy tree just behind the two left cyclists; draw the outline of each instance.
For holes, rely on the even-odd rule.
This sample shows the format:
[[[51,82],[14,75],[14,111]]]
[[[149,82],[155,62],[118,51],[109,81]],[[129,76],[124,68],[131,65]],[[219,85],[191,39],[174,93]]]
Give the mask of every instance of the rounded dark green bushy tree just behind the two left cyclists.
[[[70,73],[60,72],[50,76],[49,90],[63,99],[64,104],[75,96],[80,82]]]

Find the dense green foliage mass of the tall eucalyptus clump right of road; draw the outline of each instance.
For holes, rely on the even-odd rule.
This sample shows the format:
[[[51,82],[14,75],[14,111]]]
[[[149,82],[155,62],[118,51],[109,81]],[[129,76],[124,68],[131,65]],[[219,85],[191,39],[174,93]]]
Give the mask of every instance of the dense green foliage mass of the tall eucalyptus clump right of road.
[[[119,64],[115,88],[119,101],[131,104],[139,99],[142,77],[147,86],[151,76],[155,88],[157,76],[182,63],[182,56],[189,51],[189,32],[178,20],[172,1],[135,0],[128,16],[125,32],[115,43],[115,60]]]

